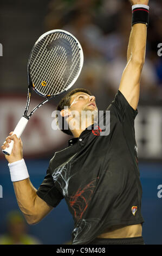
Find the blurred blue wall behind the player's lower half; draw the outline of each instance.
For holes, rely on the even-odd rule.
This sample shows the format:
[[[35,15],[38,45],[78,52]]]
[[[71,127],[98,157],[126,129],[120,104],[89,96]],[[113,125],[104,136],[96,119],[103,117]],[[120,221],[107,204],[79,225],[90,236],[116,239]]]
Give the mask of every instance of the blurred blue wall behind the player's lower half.
[[[38,188],[41,184],[49,160],[25,160],[30,180]],[[0,184],[3,187],[3,198],[0,198],[0,235],[6,231],[5,218],[9,211],[18,209],[14,188],[10,180],[7,162],[0,161]],[[143,236],[146,244],[162,245],[162,198],[158,198],[158,185],[162,184],[162,163],[139,164],[143,188],[142,214]],[[162,194],[162,193],[161,193]],[[27,224],[28,225],[28,224]],[[64,200],[48,216],[36,225],[28,225],[28,234],[36,236],[43,244],[59,245],[71,239],[73,218],[68,212]]]

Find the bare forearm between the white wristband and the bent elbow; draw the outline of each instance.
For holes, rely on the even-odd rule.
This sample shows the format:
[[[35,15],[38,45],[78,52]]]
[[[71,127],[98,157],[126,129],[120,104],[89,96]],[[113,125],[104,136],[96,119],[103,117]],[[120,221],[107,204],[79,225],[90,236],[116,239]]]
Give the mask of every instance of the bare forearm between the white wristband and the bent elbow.
[[[36,188],[31,184],[30,179],[13,182],[18,206],[29,224],[36,222]]]

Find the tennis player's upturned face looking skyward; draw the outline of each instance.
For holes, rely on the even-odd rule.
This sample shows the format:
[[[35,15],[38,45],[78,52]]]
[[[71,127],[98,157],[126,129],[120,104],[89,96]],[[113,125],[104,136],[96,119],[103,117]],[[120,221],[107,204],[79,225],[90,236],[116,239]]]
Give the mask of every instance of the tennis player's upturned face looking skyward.
[[[71,111],[98,111],[95,103],[95,96],[90,96],[87,93],[75,93],[71,96],[70,100]]]

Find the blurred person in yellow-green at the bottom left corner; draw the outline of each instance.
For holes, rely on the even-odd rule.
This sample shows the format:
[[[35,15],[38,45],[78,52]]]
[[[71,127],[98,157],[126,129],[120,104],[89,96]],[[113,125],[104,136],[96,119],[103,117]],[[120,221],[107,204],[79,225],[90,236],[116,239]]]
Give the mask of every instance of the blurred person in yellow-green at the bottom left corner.
[[[40,241],[27,234],[27,224],[19,211],[7,216],[8,233],[0,236],[0,245],[40,245]]]

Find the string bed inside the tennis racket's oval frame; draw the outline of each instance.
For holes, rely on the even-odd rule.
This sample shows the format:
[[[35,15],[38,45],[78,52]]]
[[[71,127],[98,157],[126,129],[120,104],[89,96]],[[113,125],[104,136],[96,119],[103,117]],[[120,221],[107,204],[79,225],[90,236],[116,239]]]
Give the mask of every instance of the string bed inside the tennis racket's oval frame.
[[[65,33],[47,35],[38,42],[31,56],[31,80],[44,96],[59,94],[68,88],[79,70],[80,48],[74,38]]]

